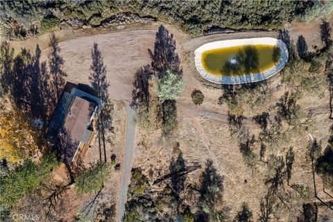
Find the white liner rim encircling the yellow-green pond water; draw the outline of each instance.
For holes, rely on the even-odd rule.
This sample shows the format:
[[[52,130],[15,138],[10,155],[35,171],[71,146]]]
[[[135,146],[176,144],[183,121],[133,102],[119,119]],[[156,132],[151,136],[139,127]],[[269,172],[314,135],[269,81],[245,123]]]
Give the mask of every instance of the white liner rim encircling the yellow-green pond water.
[[[271,69],[266,69],[261,73],[247,74],[243,76],[216,76],[206,71],[201,63],[201,57],[204,51],[210,49],[221,49],[231,46],[254,45],[254,44],[269,44],[269,45],[278,46],[280,48],[280,60],[278,61],[278,63]],[[284,44],[282,40],[277,40],[273,37],[259,37],[259,38],[250,38],[250,39],[223,40],[223,41],[210,42],[207,44],[203,44],[194,51],[194,62],[196,64],[196,69],[198,70],[200,75],[212,83],[224,84],[224,85],[255,83],[258,81],[265,80],[267,78],[270,78],[274,74],[278,73],[279,71],[281,71],[284,65],[286,65],[287,61],[288,61],[288,49],[286,44]]]

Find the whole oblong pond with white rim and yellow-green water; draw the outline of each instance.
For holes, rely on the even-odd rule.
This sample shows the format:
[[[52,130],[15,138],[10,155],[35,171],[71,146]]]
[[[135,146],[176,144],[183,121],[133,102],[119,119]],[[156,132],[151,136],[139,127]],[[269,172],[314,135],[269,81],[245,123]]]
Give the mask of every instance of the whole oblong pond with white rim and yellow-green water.
[[[264,80],[280,71],[288,61],[286,44],[273,37],[210,42],[194,54],[201,76],[225,85]]]

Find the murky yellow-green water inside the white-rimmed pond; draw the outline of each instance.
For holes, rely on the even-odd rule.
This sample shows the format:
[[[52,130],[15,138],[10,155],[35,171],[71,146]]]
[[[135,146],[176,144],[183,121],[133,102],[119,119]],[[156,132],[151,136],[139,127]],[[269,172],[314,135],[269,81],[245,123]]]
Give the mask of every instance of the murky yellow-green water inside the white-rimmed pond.
[[[203,52],[201,62],[210,74],[242,76],[270,69],[279,59],[278,46],[255,44],[207,50]]]

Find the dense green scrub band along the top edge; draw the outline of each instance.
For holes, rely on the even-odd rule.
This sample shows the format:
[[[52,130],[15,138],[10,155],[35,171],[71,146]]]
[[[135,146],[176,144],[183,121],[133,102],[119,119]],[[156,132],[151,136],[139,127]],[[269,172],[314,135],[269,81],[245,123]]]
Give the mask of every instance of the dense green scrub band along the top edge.
[[[331,1],[1,1],[1,35],[26,37],[59,21],[75,26],[117,23],[127,14],[155,17],[192,35],[225,28],[275,29],[328,15]]]

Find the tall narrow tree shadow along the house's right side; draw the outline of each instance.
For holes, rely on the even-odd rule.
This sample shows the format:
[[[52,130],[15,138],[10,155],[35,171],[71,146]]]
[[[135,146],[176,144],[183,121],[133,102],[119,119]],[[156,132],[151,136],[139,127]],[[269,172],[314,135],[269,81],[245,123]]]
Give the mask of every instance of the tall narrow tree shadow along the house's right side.
[[[107,161],[106,157],[106,142],[111,142],[110,138],[106,138],[107,130],[113,133],[111,111],[113,109],[112,103],[109,99],[108,87],[110,86],[106,79],[106,67],[103,62],[103,56],[99,50],[98,44],[94,43],[92,49],[92,65],[90,66],[90,84],[96,90],[97,97],[104,101],[100,104],[101,114],[97,121],[99,148],[101,152],[101,144],[103,144],[104,162]]]

